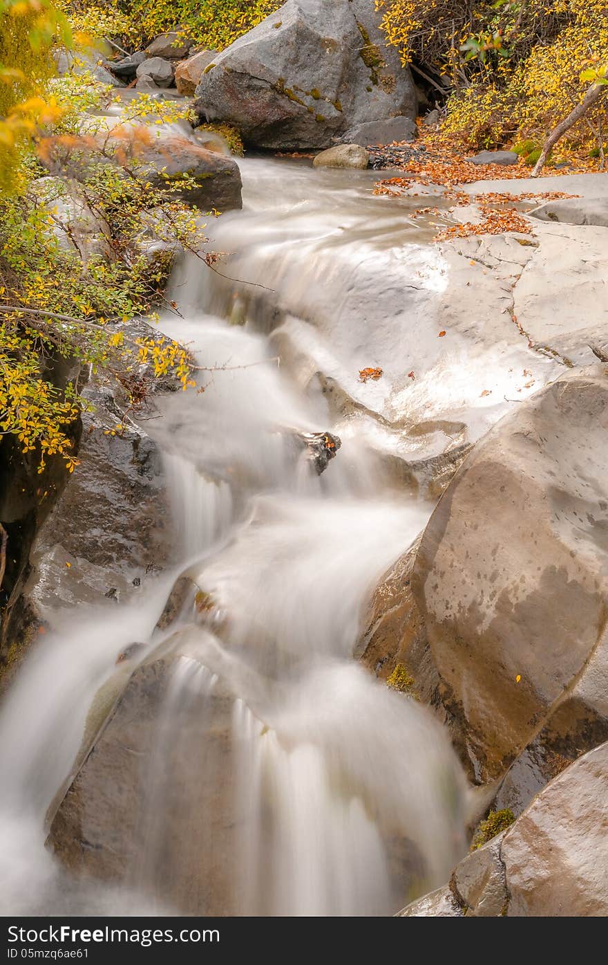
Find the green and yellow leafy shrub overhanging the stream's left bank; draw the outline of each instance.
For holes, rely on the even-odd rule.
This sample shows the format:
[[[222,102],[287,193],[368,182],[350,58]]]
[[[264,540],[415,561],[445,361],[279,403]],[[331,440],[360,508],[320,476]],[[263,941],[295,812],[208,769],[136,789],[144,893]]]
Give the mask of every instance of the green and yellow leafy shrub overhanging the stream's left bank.
[[[0,433],[15,436],[24,452],[35,452],[40,473],[55,455],[72,472],[78,460],[71,427],[84,404],[78,372],[102,370],[114,377],[128,407],[145,399],[149,378],[170,375],[183,388],[193,383],[183,345],[162,336],[134,337],[125,324],[133,317],[155,318],[170,269],[170,257],[150,265],[133,248],[142,215],[153,212],[165,237],[195,251],[201,226],[197,212],[178,200],[182,180],[154,188],[138,174],[136,151],[125,168],[116,163],[119,149],[95,140],[100,122],[94,115],[110,89],[86,74],[51,79],[53,38],[71,42],[64,15],[46,0],[0,0],[0,16]],[[86,112],[91,122],[82,134]],[[180,105],[142,96],[129,105],[125,122],[185,116]],[[51,179],[58,185],[56,199],[44,193],[48,182],[38,181],[48,174],[40,160],[52,161],[63,176]],[[83,259],[70,243],[61,202],[73,191],[112,226],[110,257]],[[72,374],[58,381],[62,359]]]

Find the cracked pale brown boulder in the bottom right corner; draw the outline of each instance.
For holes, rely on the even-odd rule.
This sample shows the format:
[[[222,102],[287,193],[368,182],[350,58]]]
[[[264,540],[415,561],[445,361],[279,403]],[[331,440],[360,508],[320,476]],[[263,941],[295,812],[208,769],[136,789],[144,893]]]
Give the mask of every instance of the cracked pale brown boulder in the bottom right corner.
[[[507,831],[404,918],[608,915],[608,744],[570,764]]]

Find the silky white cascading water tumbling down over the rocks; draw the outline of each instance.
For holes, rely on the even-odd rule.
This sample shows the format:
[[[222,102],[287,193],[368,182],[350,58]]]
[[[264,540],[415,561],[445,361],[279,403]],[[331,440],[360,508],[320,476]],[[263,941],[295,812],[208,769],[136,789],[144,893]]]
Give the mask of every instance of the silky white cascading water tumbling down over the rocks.
[[[294,183],[264,214],[260,185],[284,171]],[[368,181],[328,214],[341,182],[324,175],[317,190],[316,177],[244,165],[246,209],[214,225],[214,246],[249,239],[248,281],[313,288],[321,259],[327,283],[332,248],[357,219],[372,243]],[[407,230],[385,220],[379,250]],[[304,240],[309,272],[294,278],[290,245]],[[357,422],[331,427],[318,382],[279,365],[277,302],[264,290],[248,304],[243,286],[196,260],[175,286],[184,317],[163,327],[190,345],[202,390],[163,397],[149,424],[165,455],[175,569],[137,603],[65,614],[13,684],[0,715],[0,833],[20,850],[2,849],[6,910],[392,914],[440,884],[464,847],[466,792],[447,735],[353,659],[371,593],[431,507],[395,490]],[[334,428],[342,448],[318,475],[305,433]],[[178,575],[191,589],[155,629]],[[145,646],[117,670],[133,641]],[[72,847],[74,813],[83,837]],[[45,820],[64,842],[59,858],[44,849]]]

